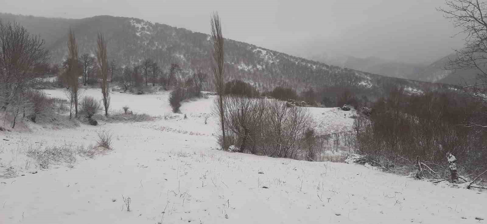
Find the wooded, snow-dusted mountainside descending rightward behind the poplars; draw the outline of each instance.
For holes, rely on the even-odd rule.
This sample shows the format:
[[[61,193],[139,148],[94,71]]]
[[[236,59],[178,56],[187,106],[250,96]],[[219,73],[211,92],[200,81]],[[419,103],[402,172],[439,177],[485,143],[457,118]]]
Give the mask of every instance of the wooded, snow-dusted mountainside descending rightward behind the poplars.
[[[72,27],[80,54],[94,54],[96,34],[101,31],[108,40],[109,57],[116,59],[120,66],[135,65],[145,58],[152,58],[166,71],[171,63],[179,63],[184,70],[183,75],[196,71],[211,74],[212,44],[207,34],[129,17],[64,19],[0,14],[0,18],[16,20],[31,33],[45,38],[54,63],[61,63],[66,58],[67,32]],[[377,59],[370,59],[374,60]],[[352,60],[348,59],[348,62],[352,63]],[[225,64],[227,80],[242,79],[260,89],[279,85],[297,90],[335,86],[380,93],[389,84],[403,85],[408,89],[431,86],[429,83],[342,68],[347,64],[330,66],[230,39],[225,39]]]

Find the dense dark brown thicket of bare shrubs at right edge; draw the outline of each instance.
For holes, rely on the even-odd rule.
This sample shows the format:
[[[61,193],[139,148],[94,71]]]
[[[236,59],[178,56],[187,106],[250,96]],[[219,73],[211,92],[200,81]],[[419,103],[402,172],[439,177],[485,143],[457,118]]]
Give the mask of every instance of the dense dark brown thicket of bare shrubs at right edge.
[[[459,173],[476,174],[487,169],[486,138],[480,127],[466,124],[487,123],[482,116],[486,109],[481,100],[457,92],[409,95],[396,88],[374,103],[368,119],[356,120],[359,149],[371,164],[388,169],[393,165],[411,172],[420,163],[428,178],[450,173],[451,153],[458,159]]]

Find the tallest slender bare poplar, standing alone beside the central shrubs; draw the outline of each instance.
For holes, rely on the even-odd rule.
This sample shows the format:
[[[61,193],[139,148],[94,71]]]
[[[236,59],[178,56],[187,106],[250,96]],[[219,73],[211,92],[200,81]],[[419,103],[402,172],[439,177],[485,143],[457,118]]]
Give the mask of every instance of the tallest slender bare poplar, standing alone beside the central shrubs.
[[[218,93],[218,108],[220,112],[220,124],[222,129],[222,148],[226,148],[225,145],[225,52],[224,52],[224,38],[222,34],[222,23],[218,13],[215,12],[210,19],[211,24],[211,36],[213,38],[213,78]]]

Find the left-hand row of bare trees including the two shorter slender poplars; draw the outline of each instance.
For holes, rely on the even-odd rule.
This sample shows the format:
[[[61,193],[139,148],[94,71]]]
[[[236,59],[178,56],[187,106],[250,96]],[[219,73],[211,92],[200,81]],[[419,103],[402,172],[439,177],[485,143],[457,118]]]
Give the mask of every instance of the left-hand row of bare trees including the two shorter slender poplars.
[[[80,114],[94,112],[83,111],[84,102],[80,98],[79,78],[82,77],[86,85],[91,79],[90,74],[96,71],[101,79],[101,93],[105,116],[108,116],[110,96],[108,90],[109,63],[106,41],[103,34],[98,33],[96,42],[96,57],[78,55],[78,46],[74,32],[70,29],[67,39],[68,58],[60,68],[48,64],[50,52],[45,48],[45,42],[38,35],[32,35],[18,23],[2,23],[0,21],[0,112],[4,122],[11,122],[15,128],[19,117],[28,118],[36,122],[39,117],[53,115],[51,110],[56,101],[36,88],[44,82],[45,74],[58,74],[58,81],[68,91],[70,119]],[[85,61],[85,59],[87,61]],[[81,105],[78,107],[78,105]],[[98,108],[98,107],[96,107]],[[91,117],[91,116],[90,116]]]

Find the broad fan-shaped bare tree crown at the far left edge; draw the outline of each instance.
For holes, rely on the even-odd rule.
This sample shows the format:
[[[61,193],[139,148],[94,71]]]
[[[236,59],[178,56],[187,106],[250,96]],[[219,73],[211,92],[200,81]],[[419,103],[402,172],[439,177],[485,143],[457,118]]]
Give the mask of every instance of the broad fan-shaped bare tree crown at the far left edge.
[[[6,110],[17,94],[39,75],[36,68],[49,60],[44,40],[18,23],[0,21],[0,109]]]

